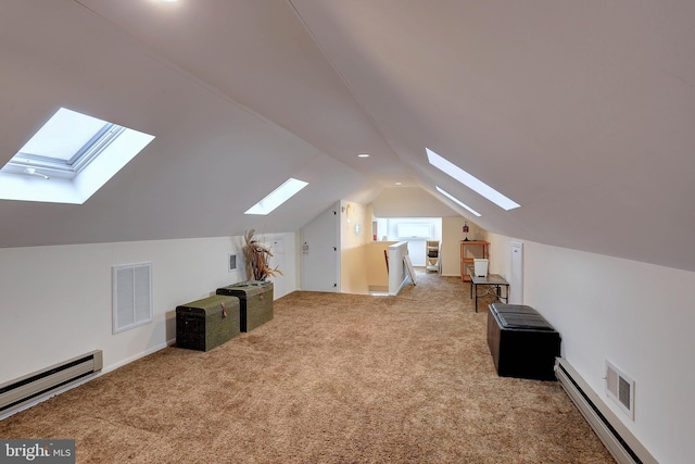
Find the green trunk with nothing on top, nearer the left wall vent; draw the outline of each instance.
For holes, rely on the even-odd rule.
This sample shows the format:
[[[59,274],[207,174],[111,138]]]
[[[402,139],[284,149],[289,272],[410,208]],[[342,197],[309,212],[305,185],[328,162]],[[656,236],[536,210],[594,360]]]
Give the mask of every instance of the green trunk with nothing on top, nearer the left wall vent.
[[[213,294],[176,306],[176,346],[210,351],[239,335],[239,299]]]

